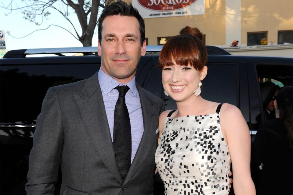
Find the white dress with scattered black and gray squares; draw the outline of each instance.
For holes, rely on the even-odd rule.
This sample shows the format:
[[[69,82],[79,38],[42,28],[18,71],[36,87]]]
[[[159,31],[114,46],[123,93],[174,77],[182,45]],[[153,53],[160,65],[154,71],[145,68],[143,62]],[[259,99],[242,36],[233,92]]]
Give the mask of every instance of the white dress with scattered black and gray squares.
[[[155,158],[167,195],[229,194],[231,157],[218,109],[167,117]]]

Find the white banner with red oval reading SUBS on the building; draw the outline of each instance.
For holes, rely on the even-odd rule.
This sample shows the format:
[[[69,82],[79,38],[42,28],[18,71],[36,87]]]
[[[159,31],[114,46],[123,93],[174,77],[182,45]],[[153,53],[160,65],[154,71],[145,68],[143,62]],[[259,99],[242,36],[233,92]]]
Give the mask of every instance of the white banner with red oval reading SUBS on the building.
[[[204,14],[204,0],[132,0],[143,18]]]

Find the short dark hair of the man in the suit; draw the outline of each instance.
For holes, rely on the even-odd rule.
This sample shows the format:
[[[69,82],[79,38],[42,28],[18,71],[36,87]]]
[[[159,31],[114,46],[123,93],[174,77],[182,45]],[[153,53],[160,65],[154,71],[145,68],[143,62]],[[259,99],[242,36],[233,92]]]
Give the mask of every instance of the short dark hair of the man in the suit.
[[[143,41],[145,40],[145,26],[144,26],[144,20],[143,17],[140,16],[138,10],[132,6],[131,3],[127,4],[123,1],[114,2],[110,5],[108,5],[103,12],[101,13],[99,20],[98,20],[98,34],[99,34],[99,42],[100,45],[102,44],[102,23],[103,20],[107,16],[134,16],[139,22],[139,32],[140,32],[140,43],[143,44]]]

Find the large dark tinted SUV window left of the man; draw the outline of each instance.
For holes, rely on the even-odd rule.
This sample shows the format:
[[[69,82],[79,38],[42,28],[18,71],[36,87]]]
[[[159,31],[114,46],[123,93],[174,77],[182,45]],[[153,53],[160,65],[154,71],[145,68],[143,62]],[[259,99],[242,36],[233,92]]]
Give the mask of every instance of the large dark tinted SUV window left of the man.
[[[94,64],[1,66],[1,123],[35,124],[49,87],[92,76]]]

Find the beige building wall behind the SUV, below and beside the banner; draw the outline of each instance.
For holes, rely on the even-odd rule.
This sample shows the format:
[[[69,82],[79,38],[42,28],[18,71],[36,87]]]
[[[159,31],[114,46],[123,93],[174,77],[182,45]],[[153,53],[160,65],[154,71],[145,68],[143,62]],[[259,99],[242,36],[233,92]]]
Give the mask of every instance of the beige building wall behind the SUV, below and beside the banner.
[[[127,0],[132,4],[142,0]],[[134,2],[136,1],[136,2]],[[200,1],[200,0],[198,0]],[[164,43],[185,26],[197,27],[207,45],[229,48],[234,40],[238,47],[293,44],[293,1],[282,0],[202,0],[204,14],[144,18],[148,45]],[[171,2],[145,0],[144,2]],[[183,2],[174,1],[172,2]],[[187,1],[186,1],[187,2]],[[286,48],[288,48],[286,47]],[[256,50],[257,51],[257,50]],[[293,45],[289,51],[292,51]]]

